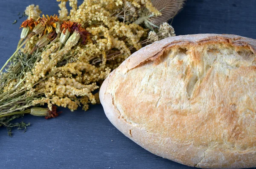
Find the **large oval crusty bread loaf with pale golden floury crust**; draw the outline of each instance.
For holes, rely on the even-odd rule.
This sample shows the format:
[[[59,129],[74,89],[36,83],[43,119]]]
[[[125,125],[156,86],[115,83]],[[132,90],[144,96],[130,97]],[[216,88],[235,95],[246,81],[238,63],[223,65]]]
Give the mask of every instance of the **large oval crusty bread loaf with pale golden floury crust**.
[[[256,40],[170,37],[140,49],[102,84],[108,119],[163,158],[201,168],[256,166]]]

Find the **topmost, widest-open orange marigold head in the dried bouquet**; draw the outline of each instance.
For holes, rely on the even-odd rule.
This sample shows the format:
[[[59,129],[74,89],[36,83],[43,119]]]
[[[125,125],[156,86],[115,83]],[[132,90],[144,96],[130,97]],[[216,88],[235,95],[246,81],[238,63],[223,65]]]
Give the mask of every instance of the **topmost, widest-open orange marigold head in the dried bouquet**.
[[[46,26],[46,29],[44,30],[44,34],[46,32],[51,33],[52,32],[52,27],[56,28],[56,22],[58,22],[58,15],[46,15],[46,17],[43,14],[43,17],[39,17],[37,22],[35,22],[35,25],[38,25],[39,23],[42,24],[42,26]]]

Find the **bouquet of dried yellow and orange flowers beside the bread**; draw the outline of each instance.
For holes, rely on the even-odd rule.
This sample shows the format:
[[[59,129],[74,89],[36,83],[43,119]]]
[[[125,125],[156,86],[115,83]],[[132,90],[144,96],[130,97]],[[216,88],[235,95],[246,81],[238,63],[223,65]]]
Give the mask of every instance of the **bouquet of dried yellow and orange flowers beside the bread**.
[[[175,36],[166,23],[184,0],[77,0],[60,2],[59,16],[30,5],[15,53],[0,70],[0,125],[23,114],[56,117],[99,103],[99,88],[111,70],[147,44]],[[6,68],[6,69],[5,69]],[[6,71],[3,71],[3,70]],[[47,103],[48,109],[37,106]]]

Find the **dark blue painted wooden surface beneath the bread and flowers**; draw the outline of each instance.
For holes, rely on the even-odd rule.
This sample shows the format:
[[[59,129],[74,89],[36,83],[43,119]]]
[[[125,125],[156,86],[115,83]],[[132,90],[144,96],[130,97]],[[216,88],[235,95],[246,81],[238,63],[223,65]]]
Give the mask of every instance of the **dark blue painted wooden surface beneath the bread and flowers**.
[[[79,0],[81,3],[81,0]],[[19,19],[35,3],[44,14],[57,14],[54,0],[0,0],[0,66],[15,51],[20,38]],[[256,0],[188,0],[175,17],[176,34],[238,34],[256,38]],[[17,23],[12,25],[14,20]],[[192,169],[151,154],[125,137],[107,119],[101,105],[58,118],[26,115],[28,130],[7,135],[0,128],[0,169]],[[113,141],[112,141],[113,140]]]

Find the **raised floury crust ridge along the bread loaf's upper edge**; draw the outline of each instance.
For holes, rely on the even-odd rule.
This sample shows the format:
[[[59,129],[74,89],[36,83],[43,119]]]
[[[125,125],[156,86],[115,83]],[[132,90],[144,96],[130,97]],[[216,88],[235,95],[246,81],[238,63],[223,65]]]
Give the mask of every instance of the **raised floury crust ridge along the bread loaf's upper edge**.
[[[233,34],[192,34],[192,35],[180,35],[175,37],[166,38],[164,40],[157,41],[148,46],[145,46],[143,49],[132,54],[126,62],[122,63],[122,66],[125,65],[126,69],[132,69],[138,66],[140,63],[148,59],[153,59],[169,48],[179,45],[198,45],[205,43],[230,43],[233,46],[247,46],[253,51],[256,52],[256,40],[241,37]],[[152,57],[152,58],[151,58]]]

